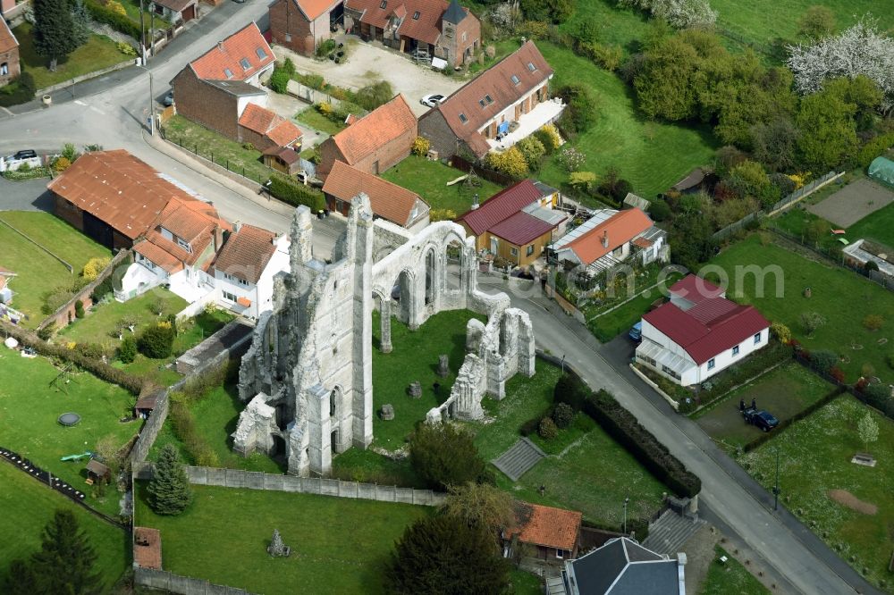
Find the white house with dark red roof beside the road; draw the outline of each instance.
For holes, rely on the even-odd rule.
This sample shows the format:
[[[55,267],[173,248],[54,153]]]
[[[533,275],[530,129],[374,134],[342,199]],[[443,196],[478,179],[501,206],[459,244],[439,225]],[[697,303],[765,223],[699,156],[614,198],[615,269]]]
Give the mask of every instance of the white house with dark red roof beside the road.
[[[671,286],[671,300],[643,316],[637,363],[689,386],[737,364],[770,341],[770,323],[696,275]]]

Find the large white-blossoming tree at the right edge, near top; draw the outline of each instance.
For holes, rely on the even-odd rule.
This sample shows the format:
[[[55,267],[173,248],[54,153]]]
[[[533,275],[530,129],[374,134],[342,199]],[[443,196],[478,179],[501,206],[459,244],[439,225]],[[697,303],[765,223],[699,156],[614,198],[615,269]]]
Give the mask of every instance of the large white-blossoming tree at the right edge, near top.
[[[801,93],[819,91],[827,79],[862,74],[884,92],[882,108],[894,107],[894,39],[880,33],[872,18],[864,17],[838,36],[788,49],[789,68]]]

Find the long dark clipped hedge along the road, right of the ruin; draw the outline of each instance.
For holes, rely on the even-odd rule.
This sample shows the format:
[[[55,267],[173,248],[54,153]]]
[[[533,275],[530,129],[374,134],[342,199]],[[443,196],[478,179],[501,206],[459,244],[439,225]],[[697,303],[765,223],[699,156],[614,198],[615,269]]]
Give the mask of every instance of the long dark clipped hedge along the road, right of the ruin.
[[[584,413],[678,496],[692,498],[702,490],[702,481],[696,474],[687,470],[652,432],[605,390],[586,399]]]

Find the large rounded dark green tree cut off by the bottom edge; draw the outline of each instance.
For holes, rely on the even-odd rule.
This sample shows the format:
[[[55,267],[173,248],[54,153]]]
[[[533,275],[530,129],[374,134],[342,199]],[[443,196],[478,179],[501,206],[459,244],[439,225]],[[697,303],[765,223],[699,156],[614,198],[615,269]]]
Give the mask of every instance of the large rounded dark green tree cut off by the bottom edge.
[[[385,568],[389,591],[494,595],[509,589],[509,562],[485,526],[426,516],[409,526]]]

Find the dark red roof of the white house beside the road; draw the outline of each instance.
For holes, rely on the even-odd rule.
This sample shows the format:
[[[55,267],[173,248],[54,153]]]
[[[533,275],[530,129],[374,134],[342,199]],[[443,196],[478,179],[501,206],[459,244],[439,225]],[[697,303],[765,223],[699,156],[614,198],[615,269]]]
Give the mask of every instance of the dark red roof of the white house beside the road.
[[[687,281],[687,286],[695,286],[696,279],[690,277],[695,275],[689,275],[684,281]],[[677,285],[671,287],[671,291]],[[697,365],[704,364],[770,326],[754,306],[739,306],[718,296],[703,296],[689,310],[682,310],[668,302],[645,314],[643,320],[685,349]]]

